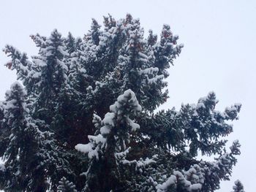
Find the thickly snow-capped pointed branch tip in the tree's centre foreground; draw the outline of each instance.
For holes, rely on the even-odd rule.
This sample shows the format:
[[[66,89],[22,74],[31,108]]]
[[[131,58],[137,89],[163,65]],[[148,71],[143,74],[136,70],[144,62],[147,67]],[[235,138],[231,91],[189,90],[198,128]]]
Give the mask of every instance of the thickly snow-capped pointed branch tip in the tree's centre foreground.
[[[110,106],[110,112],[105,115],[103,120],[101,120],[98,115],[94,115],[93,123],[96,128],[99,128],[99,134],[96,136],[89,135],[88,138],[90,142],[86,145],[78,144],[75,146],[75,149],[82,153],[88,153],[89,158],[96,157],[98,159],[99,153],[104,153],[105,147],[108,145],[108,135],[113,127],[118,127],[118,125],[122,123],[124,127],[118,128],[124,129],[127,132],[136,131],[140,128],[137,123],[129,118],[130,114],[136,115],[140,111],[141,106],[136,99],[135,93],[130,89],[124,91],[124,94],[118,96],[115,104]],[[120,145],[123,145],[123,147],[116,146],[116,153],[123,153],[119,149],[126,148],[125,142],[121,135],[120,137],[118,136],[117,134],[116,140],[121,139]],[[129,140],[126,142],[129,142]]]

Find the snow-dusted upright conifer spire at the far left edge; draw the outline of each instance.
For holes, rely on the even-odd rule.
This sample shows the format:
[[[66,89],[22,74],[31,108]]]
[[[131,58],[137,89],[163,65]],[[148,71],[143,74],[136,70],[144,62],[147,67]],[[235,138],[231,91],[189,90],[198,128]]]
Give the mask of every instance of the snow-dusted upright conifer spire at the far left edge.
[[[4,191],[32,191],[31,188],[43,191],[47,185],[44,171],[34,166],[42,163],[39,147],[42,146],[44,133],[39,131],[37,123],[29,115],[26,92],[20,83],[15,82],[11,90],[7,91],[3,107],[1,142],[4,143]],[[41,184],[34,183],[31,169],[39,174],[33,179],[41,180]]]

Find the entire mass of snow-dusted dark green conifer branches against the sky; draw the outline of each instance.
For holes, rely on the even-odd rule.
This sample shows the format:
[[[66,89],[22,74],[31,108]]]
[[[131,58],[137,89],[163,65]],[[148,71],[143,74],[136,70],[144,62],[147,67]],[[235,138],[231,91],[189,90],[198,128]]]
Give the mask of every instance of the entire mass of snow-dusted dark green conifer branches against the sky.
[[[241,104],[217,111],[210,92],[156,112],[183,47],[170,26],[145,37],[140,20],[108,15],[103,27],[92,20],[83,39],[57,30],[31,39],[31,59],[4,48],[23,85],[12,84],[0,103],[1,189],[206,192],[229,180],[240,144],[227,150],[225,138]]]

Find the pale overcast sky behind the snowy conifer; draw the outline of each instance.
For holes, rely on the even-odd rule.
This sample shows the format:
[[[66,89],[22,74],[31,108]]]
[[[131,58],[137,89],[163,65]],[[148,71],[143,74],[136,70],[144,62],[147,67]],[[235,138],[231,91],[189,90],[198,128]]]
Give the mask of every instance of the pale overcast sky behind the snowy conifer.
[[[83,37],[91,18],[102,22],[102,15],[124,18],[127,12],[140,18],[145,31],[159,34],[163,23],[170,24],[184,49],[170,69],[170,99],[161,108],[181,103],[195,103],[209,91],[217,93],[217,109],[236,102],[243,104],[240,120],[233,122],[234,133],[228,137],[241,142],[241,156],[233,169],[231,181],[222,183],[223,192],[231,191],[240,179],[246,192],[256,184],[256,1],[121,1],[121,0],[0,0],[0,47],[11,44],[34,55],[37,49],[30,34],[48,36],[53,28]],[[4,67],[8,61],[0,52],[0,99],[15,81],[15,72]]]

